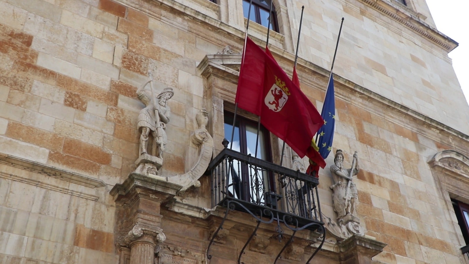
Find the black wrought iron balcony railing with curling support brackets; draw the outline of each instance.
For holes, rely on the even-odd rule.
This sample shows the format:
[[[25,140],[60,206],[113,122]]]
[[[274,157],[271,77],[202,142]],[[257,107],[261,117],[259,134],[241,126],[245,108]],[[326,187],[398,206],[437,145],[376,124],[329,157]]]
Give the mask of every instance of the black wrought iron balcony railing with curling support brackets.
[[[260,223],[270,224],[273,221],[277,223],[275,231],[279,240],[282,238],[284,226],[294,231],[293,236],[303,229],[316,231],[323,234],[324,242],[325,229],[316,177],[226,147],[212,160],[208,170],[211,173],[212,206],[227,208],[219,229],[222,228],[230,210],[247,212],[257,219],[257,227],[245,247],[257,232]],[[219,229],[213,234],[212,241]],[[291,243],[293,236],[275,261]],[[207,250],[209,259],[212,241]],[[322,243],[311,258],[321,247]],[[241,256],[242,254],[240,258]]]

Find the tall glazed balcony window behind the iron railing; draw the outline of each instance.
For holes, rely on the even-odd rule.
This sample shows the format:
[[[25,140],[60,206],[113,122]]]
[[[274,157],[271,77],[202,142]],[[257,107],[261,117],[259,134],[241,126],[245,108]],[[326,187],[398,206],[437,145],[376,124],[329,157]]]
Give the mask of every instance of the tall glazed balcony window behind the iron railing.
[[[231,140],[234,115],[225,112],[225,138]],[[234,137],[232,149],[245,155],[256,156],[257,122],[236,115],[234,125]],[[231,143],[228,145],[228,147]],[[270,152],[269,132],[261,125],[259,131],[259,142],[257,145],[257,158],[270,162],[272,160]],[[264,190],[275,190],[273,176],[266,171],[254,171],[252,167],[234,162],[230,168],[228,185],[234,185],[233,197],[257,204],[265,204],[265,193],[259,192],[262,185]],[[239,175],[241,174],[241,176]]]

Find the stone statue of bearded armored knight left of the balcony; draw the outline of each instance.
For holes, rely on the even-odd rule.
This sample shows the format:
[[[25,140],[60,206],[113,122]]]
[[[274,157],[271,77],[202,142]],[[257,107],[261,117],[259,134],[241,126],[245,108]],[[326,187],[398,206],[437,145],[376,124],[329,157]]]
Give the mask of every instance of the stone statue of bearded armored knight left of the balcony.
[[[144,103],[144,109],[138,114],[137,129],[140,134],[139,157],[135,162],[136,172],[140,174],[158,174],[163,164],[163,152],[167,142],[166,124],[169,122],[171,110],[167,101],[173,97],[170,87],[165,88],[158,95],[153,88],[153,77],[140,86],[137,98]],[[150,83],[150,90],[145,87]]]

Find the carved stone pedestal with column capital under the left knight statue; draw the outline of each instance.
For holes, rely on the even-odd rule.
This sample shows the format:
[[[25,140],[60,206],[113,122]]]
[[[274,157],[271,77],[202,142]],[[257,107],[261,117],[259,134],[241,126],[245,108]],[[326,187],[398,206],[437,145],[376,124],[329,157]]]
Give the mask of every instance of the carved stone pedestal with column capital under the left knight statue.
[[[131,173],[124,183],[111,190],[117,207],[120,264],[153,264],[155,248],[158,251],[159,244],[166,239],[161,229],[160,206],[182,186],[153,176]]]

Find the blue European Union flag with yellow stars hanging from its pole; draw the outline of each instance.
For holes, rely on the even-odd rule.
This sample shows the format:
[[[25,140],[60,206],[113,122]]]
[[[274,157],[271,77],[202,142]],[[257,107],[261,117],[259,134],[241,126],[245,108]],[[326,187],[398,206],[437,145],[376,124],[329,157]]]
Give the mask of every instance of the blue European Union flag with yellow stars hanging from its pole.
[[[335,99],[334,99],[334,80],[329,79],[327,91],[325,93],[323,109],[321,116],[324,119],[324,124],[318,130],[318,148],[319,154],[323,159],[327,158],[332,149],[332,140],[334,138],[334,125],[335,125]]]

